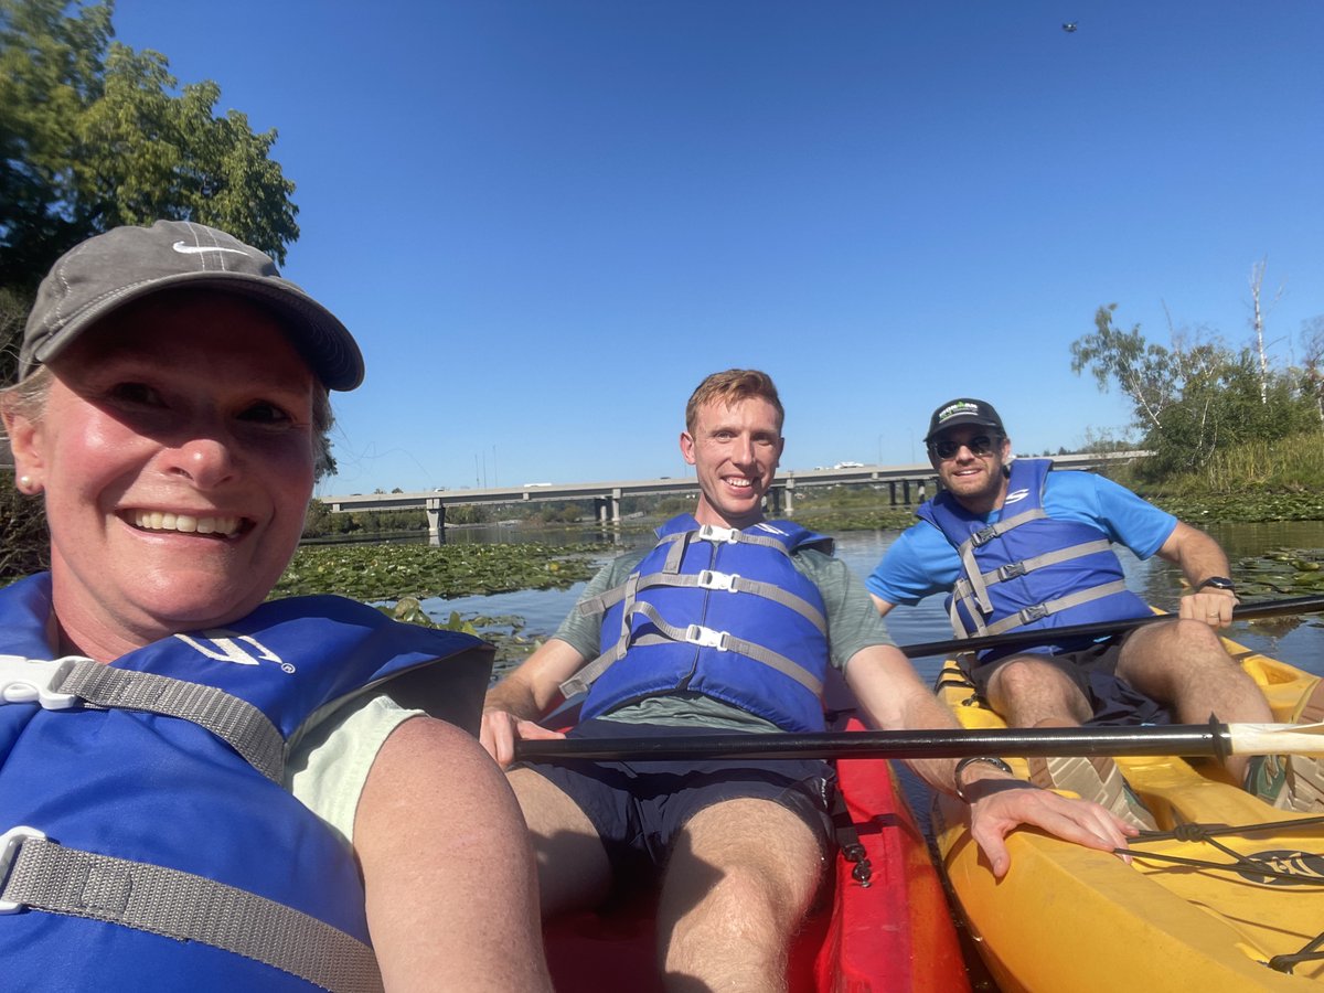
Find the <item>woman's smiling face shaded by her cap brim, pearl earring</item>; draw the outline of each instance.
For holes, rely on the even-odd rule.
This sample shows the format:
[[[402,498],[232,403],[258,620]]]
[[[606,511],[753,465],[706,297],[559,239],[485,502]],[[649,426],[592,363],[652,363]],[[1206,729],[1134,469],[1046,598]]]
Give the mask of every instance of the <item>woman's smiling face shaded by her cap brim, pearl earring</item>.
[[[316,379],[241,298],[160,294],[52,363],[40,417],[11,416],[45,490],[66,649],[110,659],[262,602],[303,530]]]

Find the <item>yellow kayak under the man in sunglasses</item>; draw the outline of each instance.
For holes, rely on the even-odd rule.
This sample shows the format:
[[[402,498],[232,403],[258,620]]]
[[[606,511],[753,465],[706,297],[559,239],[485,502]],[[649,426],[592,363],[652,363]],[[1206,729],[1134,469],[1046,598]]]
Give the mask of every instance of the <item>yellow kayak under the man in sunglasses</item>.
[[[1227,647],[1260,685],[1275,720],[1292,722],[1320,682]],[[963,726],[1004,727],[953,662],[939,694]],[[1023,759],[1009,763],[1027,777]],[[1324,988],[1324,952],[1312,956],[1324,945],[1324,818],[1268,806],[1211,761],[1121,757],[1117,765],[1160,829],[1132,842],[1129,866],[1019,830],[1008,839],[1012,869],[996,880],[969,838],[964,804],[935,801],[941,866],[1004,993]],[[1231,830],[1207,830],[1213,825]],[[1186,826],[1181,837],[1178,826]]]

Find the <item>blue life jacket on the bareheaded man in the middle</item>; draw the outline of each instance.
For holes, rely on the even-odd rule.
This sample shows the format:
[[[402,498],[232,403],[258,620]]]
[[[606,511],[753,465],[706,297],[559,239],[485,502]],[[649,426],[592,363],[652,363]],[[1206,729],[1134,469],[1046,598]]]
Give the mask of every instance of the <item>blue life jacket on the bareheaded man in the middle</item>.
[[[786,731],[821,731],[828,621],[818,588],[790,553],[830,553],[831,539],[786,520],[700,527],[688,514],[657,534],[622,587],[577,608],[605,610],[602,654],[561,687],[567,696],[589,690],[581,719],[688,691]]]

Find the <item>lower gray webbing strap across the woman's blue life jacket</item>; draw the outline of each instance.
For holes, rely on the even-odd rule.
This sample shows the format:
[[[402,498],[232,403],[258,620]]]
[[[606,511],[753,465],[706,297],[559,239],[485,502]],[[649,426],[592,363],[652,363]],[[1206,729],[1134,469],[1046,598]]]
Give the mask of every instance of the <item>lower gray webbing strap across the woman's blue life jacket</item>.
[[[336,993],[380,993],[372,948],[265,896],[147,862],[58,845],[33,828],[0,835],[0,914],[24,907],[199,941]]]

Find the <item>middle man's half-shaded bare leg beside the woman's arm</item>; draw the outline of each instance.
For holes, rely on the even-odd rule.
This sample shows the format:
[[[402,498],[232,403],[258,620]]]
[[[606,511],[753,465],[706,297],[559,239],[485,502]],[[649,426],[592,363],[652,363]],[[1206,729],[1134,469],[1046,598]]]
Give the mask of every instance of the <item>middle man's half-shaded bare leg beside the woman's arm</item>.
[[[543,919],[601,903],[612,886],[612,867],[592,821],[531,769],[514,769],[507,780],[534,841]]]

